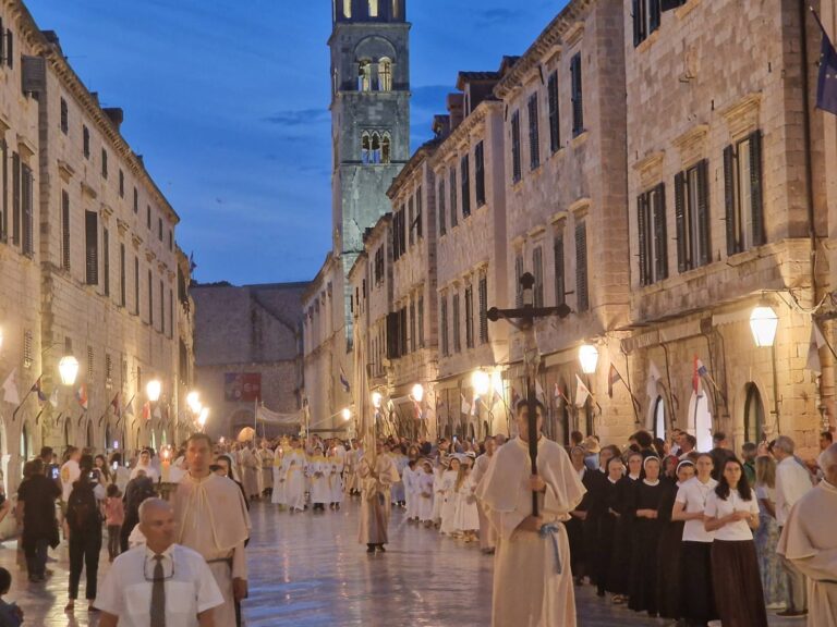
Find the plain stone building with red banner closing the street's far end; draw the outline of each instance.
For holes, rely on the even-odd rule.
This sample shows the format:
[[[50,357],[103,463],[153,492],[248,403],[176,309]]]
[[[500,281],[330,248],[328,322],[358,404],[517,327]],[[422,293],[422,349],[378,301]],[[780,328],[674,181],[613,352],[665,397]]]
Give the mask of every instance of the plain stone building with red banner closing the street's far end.
[[[302,396],[302,296],[307,283],[193,285],[195,385],[206,432],[235,438],[257,403],[293,414]],[[270,427],[258,426],[270,437]]]

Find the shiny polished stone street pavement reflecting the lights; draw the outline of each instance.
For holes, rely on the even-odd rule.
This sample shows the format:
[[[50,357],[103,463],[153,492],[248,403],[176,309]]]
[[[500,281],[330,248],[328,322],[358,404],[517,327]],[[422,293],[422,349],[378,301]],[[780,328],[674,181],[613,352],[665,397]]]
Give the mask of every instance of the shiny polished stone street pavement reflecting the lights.
[[[251,598],[245,604],[248,627],[292,625],[354,626],[476,626],[490,624],[492,558],[478,549],[442,539],[428,529],[409,525],[401,512],[392,516],[386,554],[368,556],[357,544],[357,507],[341,512],[290,515],[275,506],[253,505],[250,543]],[[66,546],[52,555],[54,573],[44,585],[31,585],[16,564],[16,542],[0,549],[0,565],[14,577],[8,600],[26,613],[25,625],[95,627],[80,603],[73,615],[66,602]],[[102,552],[101,578],[107,569]],[[83,595],[84,585],[82,585]],[[589,586],[577,588],[579,625],[606,627],[667,625],[609,606]],[[804,625],[772,618],[771,625]]]

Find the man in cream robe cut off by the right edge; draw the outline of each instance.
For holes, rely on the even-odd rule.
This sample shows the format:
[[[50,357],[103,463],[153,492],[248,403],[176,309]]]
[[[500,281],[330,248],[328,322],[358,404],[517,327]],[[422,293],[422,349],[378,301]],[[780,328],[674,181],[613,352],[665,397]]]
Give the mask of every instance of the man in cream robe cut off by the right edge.
[[[825,478],[791,509],[777,553],[808,577],[808,625],[837,625],[837,444],[820,457]]]

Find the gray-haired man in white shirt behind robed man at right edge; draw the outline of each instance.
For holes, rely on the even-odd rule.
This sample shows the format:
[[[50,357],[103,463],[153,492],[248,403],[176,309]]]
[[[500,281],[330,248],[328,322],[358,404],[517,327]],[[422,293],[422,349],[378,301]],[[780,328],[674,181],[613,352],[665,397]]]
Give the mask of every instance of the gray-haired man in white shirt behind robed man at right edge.
[[[776,522],[781,532],[788,522],[793,505],[813,488],[811,476],[793,455],[793,440],[787,435],[779,435],[773,445],[773,456],[776,457]],[[779,616],[798,617],[808,613],[808,598],[805,593],[805,576],[785,558],[783,568],[787,576],[788,608],[779,612]]]

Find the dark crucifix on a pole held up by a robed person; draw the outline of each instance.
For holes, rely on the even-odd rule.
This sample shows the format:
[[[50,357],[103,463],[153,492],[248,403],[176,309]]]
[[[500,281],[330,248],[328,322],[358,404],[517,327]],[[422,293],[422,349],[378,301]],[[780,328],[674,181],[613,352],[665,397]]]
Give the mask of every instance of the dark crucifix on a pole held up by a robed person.
[[[523,332],[523,364],[526,370],[526,403],[529,405],[529,458],[532,463],[532,475],[537,475],[537,393],[535,380],[541,365],[541,354],[535,339],[535,320],[538,318],[567,318],[571,309],[567,304],[557,307],[535,307],[534,286],[535,278],[531,272],[520,278],[520,286],[523,294],[523,307],[517,309],[498,309],[492,307],[488,310],[488,320],[497,322],[507,320]],[[517,409],[517,408],[513,408]],[[537,492],[532,492],[532,516],[537,517]]]

